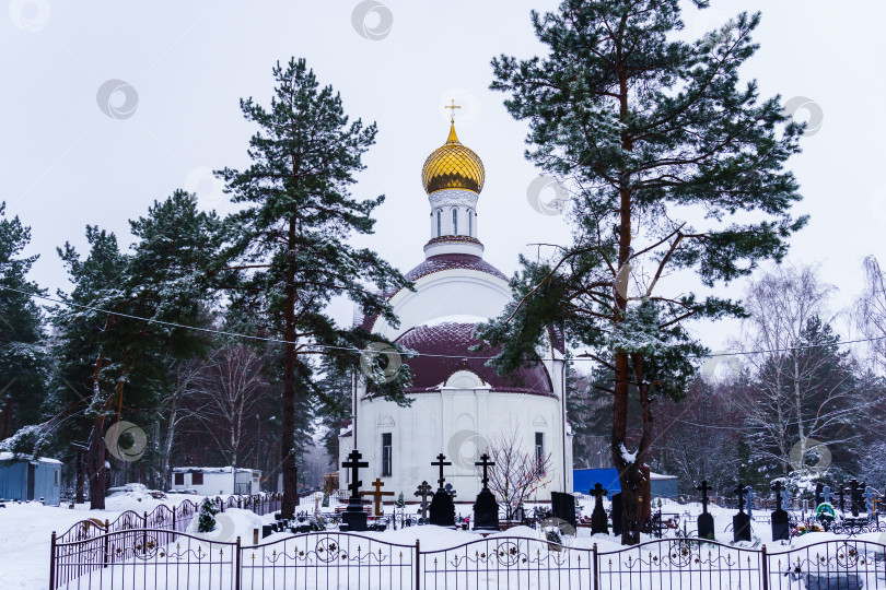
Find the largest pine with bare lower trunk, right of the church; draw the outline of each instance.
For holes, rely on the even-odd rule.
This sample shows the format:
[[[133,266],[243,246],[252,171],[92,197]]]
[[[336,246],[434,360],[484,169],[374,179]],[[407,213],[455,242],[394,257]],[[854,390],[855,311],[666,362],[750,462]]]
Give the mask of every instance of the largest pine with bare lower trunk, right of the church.
[[[735,302],[699,299],[685,284],[668,293],[660,280],[692,272],[711,286],[744,276],[760,260],[781,260],[806,222],[789,213],[801,197],[783,169],[804,126],[790,121],[780,97],[760,101],[756,82],[739,86],[759,14],[686,43],[675,36],[679,4],[564,0],[532,16],[547,55],[492,62],[491,87],[528,122],[527,158],[573,193],[573,241],[547,260],[522,260],[517,303],[482,335],[504,344],[501,371],[537,359],[547,326],[610,371],[625,544],[640,541],[653,399],[679,399],[704,352],[685,321],[742,315]],[[632,451],[631,397],[640,404]]]

